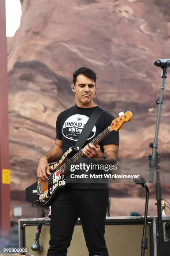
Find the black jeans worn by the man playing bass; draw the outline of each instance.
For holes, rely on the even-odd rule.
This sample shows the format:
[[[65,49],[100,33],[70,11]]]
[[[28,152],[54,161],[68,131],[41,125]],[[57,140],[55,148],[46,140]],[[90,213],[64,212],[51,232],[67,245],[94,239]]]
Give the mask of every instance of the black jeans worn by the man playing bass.
[[[105,216],[108,189],[63,189],[51,207],[50,248],[47,256],[66,256],[80,217],[89,256],[108,256]]]

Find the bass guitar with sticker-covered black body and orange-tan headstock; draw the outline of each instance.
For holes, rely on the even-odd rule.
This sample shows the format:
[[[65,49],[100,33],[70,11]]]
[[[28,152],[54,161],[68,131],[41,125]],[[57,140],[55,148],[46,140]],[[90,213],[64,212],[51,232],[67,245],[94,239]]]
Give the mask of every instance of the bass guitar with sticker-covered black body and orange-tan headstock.
[[[90,143],[95,146],[109,133],[118,131],[125,122],[130,121],[131,119],[132,112],[126,110],[125,113],[112,120],[112,123],[102,133],[90,141]],[[47,207],[52,204],[57,197],[57,193],[59,193],[60,189],[64,188],[68,182],[68,180],[65,179],[65,174],[70,172],[71,164],[75,164],[75,162],[82,157],[82,149],[77,152],[74,147],[70,147],[62,155],[59,161],[50,164],[50,171],[52,174],[48,176],[46,181],[38,179],[37,182],[37,197],[40,206]]]

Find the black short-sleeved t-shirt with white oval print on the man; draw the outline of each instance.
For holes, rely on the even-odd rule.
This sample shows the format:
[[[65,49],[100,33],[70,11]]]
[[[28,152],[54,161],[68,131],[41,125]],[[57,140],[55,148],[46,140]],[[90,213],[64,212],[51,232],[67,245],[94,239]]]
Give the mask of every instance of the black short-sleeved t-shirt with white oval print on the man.
[[[57,138],[62,140],[62,153],[64,154],[68,148],[75,146],[77,138],[80,136],[87,120],[89,119],[92,112],[98,108],[98,106],[93,108],[80,108],[77,105],[72,106],[71,108],[61,112],[57,117],[56,122],[56,133]],[[108,113],[106,110],[100,115],[100,118],[97,120],[95,126],[90,133],[90,136],[87,138],[85,144],[90,143],[97,135],[102,133],[112,122],[114,117]],[[117,144],[119,145],[119,132],[112,131],[105,138],[103,138],[98,145],[100,150],[103,152],[103,146],[108,144]],[[106,188],[107,184],[69,184],[72,189],[100,189]]]

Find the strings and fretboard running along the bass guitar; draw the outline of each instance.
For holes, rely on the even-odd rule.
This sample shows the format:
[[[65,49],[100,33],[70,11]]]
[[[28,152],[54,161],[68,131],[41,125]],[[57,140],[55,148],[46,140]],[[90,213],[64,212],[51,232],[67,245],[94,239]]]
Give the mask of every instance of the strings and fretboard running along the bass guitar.
[[[107,133],[106,133],[107,132]],[[111,130],[111,125],[110,126],[108,126],[102,133],[100,133],[94,140],[92,140],[90,143],[97,143],[97,142],[100,142],[105,136],[107,136],[107,134],[109,134],[110,132],[112,132],[112,130]],[[103,136],[104,135],[104,136]],[[103,136],[103,138],[102,138],[102,136]],[[99,141],[100,140],[100,141]],[[82,149],[80,150],[80,151],[78,151],[74,156],[72,156],[71,157],[71,159],[69,159],[66,163],[64,163],[62,166],[61,166],[61,168],[60,168],[60,174],[64,174],[64,172],[63,171],[66,171],[66,169],[67,169],[67,167],[69,167],[70,166],[70,164],[72,164],[72,163],[74,163],[75,161],[77,161],[79,158],[81,158],[82,156],[81,156],[81,154],[82,154],[82,156],[83,156],[83,153],[82,153]],[[73,161],[72,161],[72,159],[73,159]],[[71,161],[71,163],[69,163],[68,164],[68,162],[70,162]],[[67,164],[67,166],[66,166],[66,164]],[[58,168],[58,169],[59,169]],[[55,172],[57,172],[57,170],[55,171]],[[51,180],[52,180],[52,178],[53,178],[53,175],[55,174],[55,172],[53,172],[52,174],[50,174],[50,176],[51,176],[51,178],[49,179],[49,177],[48,177],[48,179],[47,179],[47,181],[46,182],[44,182],[44,184],[42,184],[42,187],[41,187],[41,189],[44,189],[47,185],[48,185],[48,183],[49,182],[51,182]],[[38,185],[39,186],[39,185]]]

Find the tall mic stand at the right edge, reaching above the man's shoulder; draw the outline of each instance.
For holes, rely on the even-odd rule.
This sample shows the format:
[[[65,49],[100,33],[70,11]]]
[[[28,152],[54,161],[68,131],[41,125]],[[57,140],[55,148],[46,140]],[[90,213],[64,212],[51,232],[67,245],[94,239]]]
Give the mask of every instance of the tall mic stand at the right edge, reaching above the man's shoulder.
[[[163,224],[162,224],[162,192],[161,192],[161,184],[160,184],[160,165],[159,165],[159,157],[157,155],[158,148],[158,132],[160,126],[160,115],[163,105],[163,90],[165,89],[165,79],[167,78],[167,67],[166,65],[162,67],[163,73],[161,75],[162,81],[160,86],[160,99],[156,101],[158,106],[158,115],[155,129],[155,138],[154,143],[150,144],[153,148],[152,155],[150,156],[149,161],[149,182],[153,182],[154,170],[156,169],[156,200],[157,200],[157,210],[158,210],[158,255],[163,256]]]

